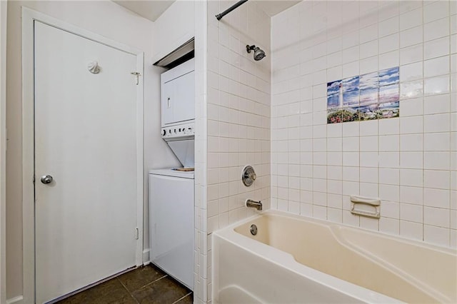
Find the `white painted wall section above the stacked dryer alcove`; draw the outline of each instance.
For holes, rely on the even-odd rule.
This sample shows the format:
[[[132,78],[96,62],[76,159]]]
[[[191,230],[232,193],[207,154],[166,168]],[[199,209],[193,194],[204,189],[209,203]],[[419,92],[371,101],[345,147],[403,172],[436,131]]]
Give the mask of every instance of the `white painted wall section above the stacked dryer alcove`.
[[[195,1],[178,0],[154,22],[154,62],[195,36]]]

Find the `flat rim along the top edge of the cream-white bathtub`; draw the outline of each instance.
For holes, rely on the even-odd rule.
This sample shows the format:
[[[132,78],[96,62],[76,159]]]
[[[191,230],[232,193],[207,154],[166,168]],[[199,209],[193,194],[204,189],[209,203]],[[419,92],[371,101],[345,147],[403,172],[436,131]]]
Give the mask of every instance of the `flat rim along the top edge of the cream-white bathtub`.
[[[322,273],[319,270],[315,270],[311,267],[298,263],[298,261],[296,261],[295,258],[293,257],[293,255],[291,255],[290,253],[286,253],[282,250],[279,250],[278,248],[273,248],[272,246],[267,245],[265,243],[261,243],[260,241],[253,242],[253,239],[248,238],[246,235],[242,235],[241,233],[237,233],[235,231],[235,228],[238,228],[238,226],[249,223],[250,221],[255,221],[257,218],[260,218],[261,216],[268,216],[268,215],[280,216],[283,218],[284,217],[294,218],[299,221],[309,221],[312,223],[317,223],[322,226],[326,226],[328,228],[331,228],[331,226],[341,226],[342,228],[356,230],[356,232],[360,232],[360,230],[362,230],[363,233],[368,233],[371,235],[378,235],[378,236],[382,236],[382,237],[385,237],[385,238],[388,238],[391,240],[401,241],[404,243],[408,243],[410,245],[418,245],[423,248],[437,250],[441,253],[447,253],[447,254],[457,256],[457,250],[454,250],[453,248],[447,248],[447,247],[442,247],[440,245],[423,243],[420,240],[404,238],[400,235],[390,235],[388,233],[383,233],[381,231],[369,230],[366,228],[358,228],[358,227],[354,227],[354,226],[348,226],[343,223],[335,223],[335,222],[326,221],[326,220],[322,220],[322,219],[318,219],[318,218],[310,218],[307,216],[298,216],[296,214],[287,213],[287,212],[283,212],[283,211],[276,211],[276,210],[271,210],[271,209],[258,212],[253,216],[244,218],[241,221],[232,223],[231,225],[226,226],[225,228],[216,230],[212,233],[213,244],[214,244],[214,238],[221,238],[222,240],[225,240],[226,242],[229,242],[233,245],[236,245],[238,247],[241,247],[241,248],[247,250],[249,253],[256,255],[256,257],[258,257],[258,258],[262,258],[264,260],[269,260],[269,261],[271,261],[271,263],[274,263],[275,265],[279,265],[283,268],[286,268],[286,270],[289,270],[298,275],[303,275],[304,277],[308,278],[309,280],[313,280],[316,283],[325,285],[327,288],[337,290],[340,293],[343,293],[345,295],[353,297],[356,300],[361,300],[366,303],[404,303],[404,302],[402,302],[401,300],[398,300],[396,298],[391,298],[388,295],[378,293],[374,290],[364,288],[360,285],[350,283],[346,280],[336,278],[333,275],[328,275],[326,273]],[[261,253],[259,253],[259,252],[261,252],[263,254],[261,255]],[[212,255],[213,269],[215,269],[214,265],[216,265],[215,260],[214,260],[215,258],[216,257],[213,254]],[[214,275],[214,273],[211,273],[211,275]],[[216,295],[216,292],[218,291],[218,290],[216,290],[216,288],[218,288],[218,286],[216,285],[214,278],[213,278],[212,285],[213,285],[212,294],[214,296],[214,295]]]

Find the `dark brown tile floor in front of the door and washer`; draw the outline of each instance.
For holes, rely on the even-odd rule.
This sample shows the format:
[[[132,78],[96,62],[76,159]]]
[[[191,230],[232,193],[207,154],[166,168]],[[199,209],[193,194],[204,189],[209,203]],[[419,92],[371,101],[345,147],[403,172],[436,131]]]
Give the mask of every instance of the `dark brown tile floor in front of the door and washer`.
[[[154,265],[146,265],[71,295],[61,304],[193,303],[193,294]]]

